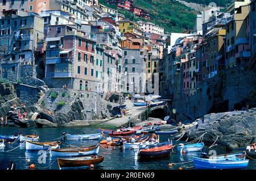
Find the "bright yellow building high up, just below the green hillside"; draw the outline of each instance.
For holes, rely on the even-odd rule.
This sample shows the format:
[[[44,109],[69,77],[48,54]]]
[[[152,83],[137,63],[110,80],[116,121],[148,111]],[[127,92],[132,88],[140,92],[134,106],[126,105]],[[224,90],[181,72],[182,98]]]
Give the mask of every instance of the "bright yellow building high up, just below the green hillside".
[[[137,35],[142,35],[142,30],[139,29],[139,25],[130,20],[119,21],[119,32],[121,33],[135,33]]]

